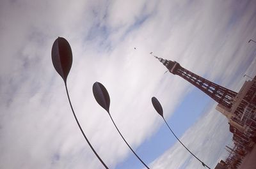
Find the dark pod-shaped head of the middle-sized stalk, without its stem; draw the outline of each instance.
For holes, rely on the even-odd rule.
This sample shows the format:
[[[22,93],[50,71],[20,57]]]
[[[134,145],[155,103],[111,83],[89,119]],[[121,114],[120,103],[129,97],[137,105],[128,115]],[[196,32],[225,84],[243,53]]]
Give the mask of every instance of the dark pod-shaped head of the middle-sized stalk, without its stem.
[[[97,103],[109,113],[110,98],[104,85],[95,82],[92,87],[92,92]]]

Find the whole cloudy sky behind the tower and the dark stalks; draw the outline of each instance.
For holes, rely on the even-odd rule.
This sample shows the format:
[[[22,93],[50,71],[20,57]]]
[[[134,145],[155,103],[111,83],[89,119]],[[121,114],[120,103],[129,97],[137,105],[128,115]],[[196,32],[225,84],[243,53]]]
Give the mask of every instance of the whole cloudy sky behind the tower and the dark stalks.
[[[239,91],[256,75],[256,1],[0,2],[0,168],[103,168],[77,127],[51,61],[56,38],[70,43],[70,99],[84,133],[109,168],[144,168],[93,98],[102,83],[110,114],[150,168],[211,168],[232,135],[216,103],[150,55]],[[134,49],[136,48],[136,49]]]

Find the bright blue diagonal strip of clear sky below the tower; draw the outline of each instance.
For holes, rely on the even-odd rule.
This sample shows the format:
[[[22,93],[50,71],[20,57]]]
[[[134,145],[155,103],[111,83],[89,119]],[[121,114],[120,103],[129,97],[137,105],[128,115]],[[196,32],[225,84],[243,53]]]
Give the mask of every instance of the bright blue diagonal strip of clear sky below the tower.
[[[180,103],[181,104],[176,108],[172,117],[165,117],[169,126],[178,138],[180,138],[180,136],[182,136],[202,114],[209,110],[209,106],[212,105],[214,101],[204,94],[204,92],[194,88],[188,93],[184,101],[181,101]],[[159,116],[159,118],[161,117]],[[140,158],[143,159],[146,164],[150,164],[152,161],[159,158],[159,156],[161,156],[166,150],[170,149],[175,142],[177,142],[177,140],[163,121],[159,130],[150,139],[142,143],[140,147],[136,149],[136,153],[140,154]],[[140,165],[140,161],[134,158],[133,154],[130,154],[129,157],[125,159],[125,161],[119,163],[116,168],[135,169],[142,167]]]

